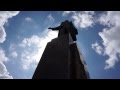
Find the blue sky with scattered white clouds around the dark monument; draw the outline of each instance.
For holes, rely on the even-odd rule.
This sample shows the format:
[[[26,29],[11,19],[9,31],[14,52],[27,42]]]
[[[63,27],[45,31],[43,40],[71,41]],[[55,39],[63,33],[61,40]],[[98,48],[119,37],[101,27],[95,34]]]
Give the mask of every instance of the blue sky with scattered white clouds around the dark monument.
[[[48,27],[72,21],[91,79],[120,78],[119,11],[0,11],[0,79],[31,79],[58,35]]]

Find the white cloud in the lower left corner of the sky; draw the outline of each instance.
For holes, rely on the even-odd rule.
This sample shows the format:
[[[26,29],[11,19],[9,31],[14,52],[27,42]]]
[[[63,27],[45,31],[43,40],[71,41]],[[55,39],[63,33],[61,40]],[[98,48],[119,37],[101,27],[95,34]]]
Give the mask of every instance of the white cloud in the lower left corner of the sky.
[[[13,77],[9,75],[9,72],[4,65],[4,62],[7,62],[8,58],[5,56],[5,51],[0,48],[0,79],[12,79]]]

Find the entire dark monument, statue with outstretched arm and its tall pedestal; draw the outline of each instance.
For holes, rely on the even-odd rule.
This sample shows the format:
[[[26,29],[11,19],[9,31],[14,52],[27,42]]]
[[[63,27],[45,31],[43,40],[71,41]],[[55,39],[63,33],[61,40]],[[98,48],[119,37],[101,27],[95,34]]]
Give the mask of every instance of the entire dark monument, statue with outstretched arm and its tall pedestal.
[[[77,48],[77,29],[65,20],[58,37],[48,42],[32,79],[89,79],[89,73]]]

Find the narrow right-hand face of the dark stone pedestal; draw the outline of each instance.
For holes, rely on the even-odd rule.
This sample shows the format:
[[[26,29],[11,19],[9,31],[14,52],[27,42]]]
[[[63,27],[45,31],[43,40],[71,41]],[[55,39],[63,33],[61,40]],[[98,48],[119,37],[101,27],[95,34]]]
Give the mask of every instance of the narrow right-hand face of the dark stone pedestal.
[[[70,51],[70,79],[87,79],[84,64],[81,61],[77,44],[73,43],[69,46]]]

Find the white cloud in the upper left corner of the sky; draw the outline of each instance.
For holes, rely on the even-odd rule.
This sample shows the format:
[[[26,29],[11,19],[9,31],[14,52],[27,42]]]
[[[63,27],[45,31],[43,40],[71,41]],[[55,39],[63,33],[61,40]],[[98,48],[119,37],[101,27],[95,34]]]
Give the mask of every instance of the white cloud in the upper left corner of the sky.
[[[0,43],[3,43],[6,39],[4,25],[8,22],[9,18],[16,16],[18,13],[18,11],[0,11]]]

